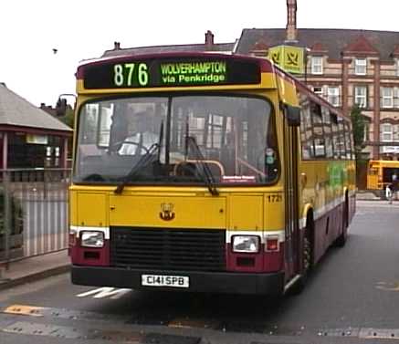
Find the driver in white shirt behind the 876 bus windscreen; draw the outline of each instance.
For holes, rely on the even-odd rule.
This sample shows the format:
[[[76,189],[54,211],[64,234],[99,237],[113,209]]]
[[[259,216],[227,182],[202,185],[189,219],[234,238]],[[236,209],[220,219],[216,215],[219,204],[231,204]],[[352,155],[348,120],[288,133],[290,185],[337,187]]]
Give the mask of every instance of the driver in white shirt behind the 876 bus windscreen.
[[[131,123],[133,135],[122,143],[119,153],[122,155],[145,154],[152,144],[158,143],[159,134],[152,132],[153,116],[148,111],[136,112]]]

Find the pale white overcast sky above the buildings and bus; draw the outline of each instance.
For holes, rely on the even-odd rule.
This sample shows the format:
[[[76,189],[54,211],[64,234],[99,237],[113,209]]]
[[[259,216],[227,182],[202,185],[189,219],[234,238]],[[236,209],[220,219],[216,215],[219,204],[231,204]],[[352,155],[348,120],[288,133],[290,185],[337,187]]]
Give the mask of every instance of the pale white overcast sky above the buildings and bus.
[[[297,3],[299,28],[399,31],[399,0]],[[211,30],[215,43],[234,42],[243,28],[284,28],[286,4],[287,0],[1,0],[0,82],[36,106],[54,106],[58,95],[76,93],[79,61],[100,57],[115,41],[121,47],[204,43],[205,32]]]

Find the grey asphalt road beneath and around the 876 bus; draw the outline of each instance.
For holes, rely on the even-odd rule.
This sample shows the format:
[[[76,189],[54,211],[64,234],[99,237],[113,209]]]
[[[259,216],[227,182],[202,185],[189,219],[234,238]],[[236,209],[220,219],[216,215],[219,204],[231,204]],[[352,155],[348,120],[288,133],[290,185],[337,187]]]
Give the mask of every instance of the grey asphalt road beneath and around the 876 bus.
[[[70,285],[0,293],[0,343],[389,343],[399,339],[399,202],[358,202],[299,296],[148,293]]]

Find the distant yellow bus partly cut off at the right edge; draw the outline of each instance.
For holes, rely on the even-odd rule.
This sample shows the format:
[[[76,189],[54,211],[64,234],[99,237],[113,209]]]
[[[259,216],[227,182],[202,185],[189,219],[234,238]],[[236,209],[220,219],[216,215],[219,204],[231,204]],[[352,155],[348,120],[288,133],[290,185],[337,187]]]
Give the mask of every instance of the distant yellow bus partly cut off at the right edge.
[[[367,166],[367,190],[385,197],[386,187],[393,182],[393,175],[399,176],[399,162],[371,160]]]

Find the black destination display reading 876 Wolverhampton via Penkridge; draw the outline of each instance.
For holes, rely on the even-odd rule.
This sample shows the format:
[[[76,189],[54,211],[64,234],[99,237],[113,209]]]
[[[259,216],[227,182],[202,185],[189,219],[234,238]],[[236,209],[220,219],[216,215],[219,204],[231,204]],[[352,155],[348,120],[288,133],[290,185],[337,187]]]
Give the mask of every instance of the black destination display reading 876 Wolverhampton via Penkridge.
[[[84,66],[85,89],[260,83],[257,61],[213,57],[131,59]]]

